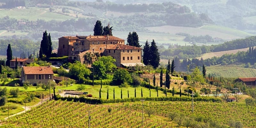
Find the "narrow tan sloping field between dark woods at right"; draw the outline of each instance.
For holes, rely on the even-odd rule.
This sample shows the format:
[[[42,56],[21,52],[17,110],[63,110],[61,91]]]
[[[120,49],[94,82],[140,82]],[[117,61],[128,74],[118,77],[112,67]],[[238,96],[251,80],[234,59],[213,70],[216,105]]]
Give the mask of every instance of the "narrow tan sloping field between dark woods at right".
[[[236,54],[236,52],[240,51],[248,51],[249,48],[243,48],[243,49],[236,49],[236,50],[228,50],[228,51],[221,51],[221,52],[208,52],[208,53],[204,53],[201,57],[203,59],[208,59],[208,58],[212,58],[214,56],[216,57],[221,57],[224,54]],[[198,59],[201,59],[201,57],[197,57]]]

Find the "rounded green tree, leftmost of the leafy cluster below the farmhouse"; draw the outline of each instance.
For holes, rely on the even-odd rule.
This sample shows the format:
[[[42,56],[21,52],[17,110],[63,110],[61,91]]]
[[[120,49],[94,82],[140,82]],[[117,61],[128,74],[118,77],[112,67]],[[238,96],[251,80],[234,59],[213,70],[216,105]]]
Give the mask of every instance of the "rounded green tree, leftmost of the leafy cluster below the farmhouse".
[[[76,61],[74,64],[71,64],[69,68],[69,75],[71,78],[79,80],[80,82],[84,81],[84,78],[89,76],[91,73],[90,69],[88,69],[85,64],[82,64],[78,61]]]

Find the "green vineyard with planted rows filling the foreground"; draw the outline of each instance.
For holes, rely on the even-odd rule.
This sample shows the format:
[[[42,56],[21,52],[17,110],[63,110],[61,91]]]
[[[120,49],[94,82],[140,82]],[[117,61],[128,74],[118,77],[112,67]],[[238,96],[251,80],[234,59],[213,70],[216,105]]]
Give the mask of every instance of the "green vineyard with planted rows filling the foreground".
[[[191,119],[191,117],[203,116],[220,124],[228,124],[230,120],[236,120],[242,122],[244,127],[256,126],[256,108],[234,102],[194,102],[193,114],[191,113],[191,102],[185,101],[145,101],[145,109],[155,110],[155,116],[151,117],[148,117],[147,112],[144,111],[145,128],[169,128],[176,125],[176,120],[171,122],[168,119],[163,119],[170,112],[183,115],[177,117],[184,118],[183,122],[186,122],[188,117]],[[72,101],[48,101],[32,108],[27,113],[2,120],[0,127],[87,127],[90,111],[90,126],[92,128],[140,128],[142,127],[141,110],[141,102],[90,105]],[[198,122],[204,124],[205,120]],[[210,123],[210,125],[212,124]]]

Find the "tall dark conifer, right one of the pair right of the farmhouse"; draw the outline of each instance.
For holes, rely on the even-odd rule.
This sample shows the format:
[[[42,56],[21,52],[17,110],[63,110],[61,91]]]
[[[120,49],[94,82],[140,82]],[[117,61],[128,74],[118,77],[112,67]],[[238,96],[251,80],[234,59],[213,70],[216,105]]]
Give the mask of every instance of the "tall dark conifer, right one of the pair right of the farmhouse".
[[[150,57],[150,65],[153,66],[153,68],[157,68],[160,64],[160,55],[156,46],[156,42],[153,39],[153,41],[151,42],[151,46],[149,48],[149,57]]]

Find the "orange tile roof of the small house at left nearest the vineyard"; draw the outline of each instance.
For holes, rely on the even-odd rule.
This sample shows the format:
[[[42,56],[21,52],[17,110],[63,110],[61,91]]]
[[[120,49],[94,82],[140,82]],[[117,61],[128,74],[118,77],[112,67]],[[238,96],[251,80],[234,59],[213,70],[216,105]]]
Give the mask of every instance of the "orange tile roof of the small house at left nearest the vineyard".
[[[23,67],[25,75],[27,74],[53,74],[50,66]]]

